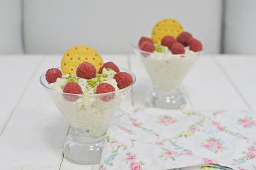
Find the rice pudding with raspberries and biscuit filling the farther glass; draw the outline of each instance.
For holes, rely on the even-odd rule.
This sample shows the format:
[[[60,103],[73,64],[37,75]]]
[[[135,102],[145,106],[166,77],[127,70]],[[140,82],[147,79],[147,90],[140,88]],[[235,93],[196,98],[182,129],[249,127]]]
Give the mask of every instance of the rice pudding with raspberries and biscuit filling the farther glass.
[[[134,45],[158,91],[177,88],[202,51],[202,44],[183,31],[175,19],[162,19],[152,29],[152,38],[141,37]]]

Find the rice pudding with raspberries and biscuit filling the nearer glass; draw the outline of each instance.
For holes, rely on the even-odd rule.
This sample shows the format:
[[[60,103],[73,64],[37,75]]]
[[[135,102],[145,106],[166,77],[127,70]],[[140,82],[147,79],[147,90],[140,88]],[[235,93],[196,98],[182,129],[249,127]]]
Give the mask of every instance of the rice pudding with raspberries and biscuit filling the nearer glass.
[[[61,70],[50,68],[45,78],[50,97],[70,126],[91,138],[105,134],[113,113],[129,92],[125,88],[134,81],[113,62],[103,63],[100,55],[87,46],[69,49],[62,58]]]

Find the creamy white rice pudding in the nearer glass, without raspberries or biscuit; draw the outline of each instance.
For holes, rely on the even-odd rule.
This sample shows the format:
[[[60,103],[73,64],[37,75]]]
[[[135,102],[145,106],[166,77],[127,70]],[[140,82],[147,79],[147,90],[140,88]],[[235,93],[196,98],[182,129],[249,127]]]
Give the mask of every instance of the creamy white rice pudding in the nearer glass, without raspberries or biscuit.
[[[76,82],[81,87],[83,94],[75,101],[70,101],[63,94],[56,93],[54,101],[60,112],[64,115],[70,126],[88,130],[94,137],[102,136],[108,126],[112,114],[117,110],[125,94],[115,94],[110,101],[104,101],[102,97],[90,97],[94,94],[96,86],[100,83],[109,83],[115,91],[118,90],[117,82],[113,78],[116,72],[112,69],[103,69],[102,74],[95,78],[84,79],[66,74],[63,78],[57,78],[56,82],[49,84],[51,89],[62,92],[67,82]]]

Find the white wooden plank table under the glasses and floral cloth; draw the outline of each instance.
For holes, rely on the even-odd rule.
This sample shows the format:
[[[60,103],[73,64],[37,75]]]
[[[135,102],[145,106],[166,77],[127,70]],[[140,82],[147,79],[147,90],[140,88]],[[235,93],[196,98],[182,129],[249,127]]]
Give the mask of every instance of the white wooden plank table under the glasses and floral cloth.
[[[121,107],[144,106],[151,87],[139,58],[103,55],[137,76]],[[0,169],[98,169],[63,159],[68,124],[39,83],[61,56],[0,56]],[[192,109],[256,109],[256,56],[202,56],[183,82]]]

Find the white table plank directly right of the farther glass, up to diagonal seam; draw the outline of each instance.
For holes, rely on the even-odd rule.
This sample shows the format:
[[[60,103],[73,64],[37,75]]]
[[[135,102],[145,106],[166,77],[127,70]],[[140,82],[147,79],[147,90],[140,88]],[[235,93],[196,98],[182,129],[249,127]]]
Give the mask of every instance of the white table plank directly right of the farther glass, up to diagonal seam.
[[[183,84],[194,109],[248,109],[211,56],[202,56]]]

